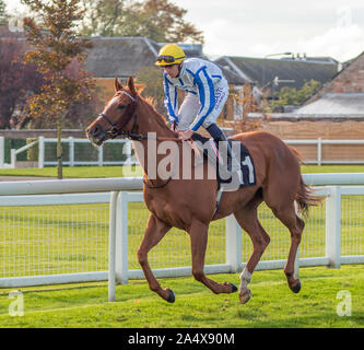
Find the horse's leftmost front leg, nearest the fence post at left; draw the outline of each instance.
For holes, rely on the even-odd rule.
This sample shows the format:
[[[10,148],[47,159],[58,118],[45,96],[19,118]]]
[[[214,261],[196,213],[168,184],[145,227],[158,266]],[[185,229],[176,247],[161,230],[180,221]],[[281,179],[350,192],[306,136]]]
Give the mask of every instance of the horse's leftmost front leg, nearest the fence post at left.
[[[158,244],[158,242],[164,237],[169,229],[169,225],[161,221],[152,213],[149,218],[144,237],[140,244],[137,255],[138,261],[141,265],[145,279],[149,283],[149,288],[167,302],[173,303],[175,301],[173,291],[171,289],[163,289],[161,287],[148,262],[148,252]]]

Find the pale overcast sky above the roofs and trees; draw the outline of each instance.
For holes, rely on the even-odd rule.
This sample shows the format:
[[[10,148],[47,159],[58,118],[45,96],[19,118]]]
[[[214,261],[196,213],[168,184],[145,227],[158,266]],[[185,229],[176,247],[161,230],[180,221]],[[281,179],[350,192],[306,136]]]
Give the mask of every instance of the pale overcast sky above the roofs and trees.
[[[364,51],[364,0],[171,0],[203,31],[212,56],[291,51],[339,61]],[[19,0],[5,0],[8,9]],[[10,12],[10,11],[9,11]]]

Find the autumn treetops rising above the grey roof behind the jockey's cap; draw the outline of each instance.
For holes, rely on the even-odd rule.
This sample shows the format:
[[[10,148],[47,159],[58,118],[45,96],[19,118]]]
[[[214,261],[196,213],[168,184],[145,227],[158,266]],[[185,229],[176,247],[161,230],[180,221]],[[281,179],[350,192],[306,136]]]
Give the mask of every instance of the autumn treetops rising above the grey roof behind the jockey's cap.
[[[203,34],[186,22],[187,10],[168,0],[83,0],[83,35],[145,36],[155,42],[203,43]]]

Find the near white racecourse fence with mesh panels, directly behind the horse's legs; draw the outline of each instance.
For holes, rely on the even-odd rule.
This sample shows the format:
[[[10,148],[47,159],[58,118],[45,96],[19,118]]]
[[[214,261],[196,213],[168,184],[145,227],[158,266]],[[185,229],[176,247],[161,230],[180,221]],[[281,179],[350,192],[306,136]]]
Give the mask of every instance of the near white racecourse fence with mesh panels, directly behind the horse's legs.
[[[313,208],[306,221],[297,267],[364,264],[364,187],[338,186],[363,185],[364,174],[304,178],[307,184],[330,186],[319,189],[327,200]],[[148,210],[140,203],[142,195],[134,191],[141,187],[141,178],[0,183],[0,288],[108,279],[113,300],[115,283],[142,279],[136,252]],[[143,218],[136,218],[136,212],[143,212]],[[260,221],[272,240],[257,269],[282,268],[290,234],[269,210],[261,212]],[[150,259],[152,267],[157,266],[153,269],[157,277],[190,275],[186,234],[168,234],[155,249]],[[207,273],[235,272],[245,265],[251,246],[228,217],[225,223],[211,224],[209,249],[213,252],[207,255]]]

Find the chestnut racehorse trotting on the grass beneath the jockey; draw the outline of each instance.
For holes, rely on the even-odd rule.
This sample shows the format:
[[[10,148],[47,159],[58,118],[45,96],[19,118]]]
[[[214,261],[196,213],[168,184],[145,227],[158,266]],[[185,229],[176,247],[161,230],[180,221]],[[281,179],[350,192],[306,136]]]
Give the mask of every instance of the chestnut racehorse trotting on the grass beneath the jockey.
[[[156,142],[174,140],[179,149],[188,143],[178,141],[177,133],[167,127],[162,115],[137,92],[132,78],[129,78],[127,86],[122,86],[115,78],[115,91],[103,113],[86,130],[87,138],[93,144],[101,145],[105,140],[117,136],[128,137],[133,140],[134,151],[140,160],[145,156],[145,153],[141,153],[142,149],[144,152],[148,149],[150,132],[155,132]],[[246,303],[250,299],[248,283],[251,273],[270,242],[257,217],[257,208],[262,201],[291,233],[291,247],[284,273],[293,292],[297,293],[301,289],[300,279],[294,276],[294,262],[305,223],[296,214],[295,202],[298,212],[308,212],[308,207],[316,205],[319,199],[314,197],[304,184],[298,154],[282,140],[263,131],[240,133],[233,139],[243,142],[250,152],[256,168],[256,185],[225,191],[216,212],[215,179],[166,180],[158,174],[151,179],[149,175],[155,173],[155,168],[151,168],[145,159],[141,162],[144,171],[144,201],[151,213],[138,249],[138,260],[150,289],[167,302],[174,302],[175,295],[171,289],[163,289],[155,279],[148,261],[148,253],[173,226],[187,231],[190,236],[195,279],[216,294],[237,291],[233,283],[218,283],[203,272],[209,224],[212,220],[232,213],[248,233],[254,246],[251,256],[240,275],[239,284],[240,302]],[[162,159],[161,155],[155,155],[156,165]],[[207,166],[206,164],[207,162],[200,166]]]

